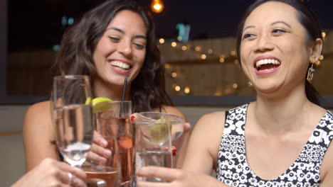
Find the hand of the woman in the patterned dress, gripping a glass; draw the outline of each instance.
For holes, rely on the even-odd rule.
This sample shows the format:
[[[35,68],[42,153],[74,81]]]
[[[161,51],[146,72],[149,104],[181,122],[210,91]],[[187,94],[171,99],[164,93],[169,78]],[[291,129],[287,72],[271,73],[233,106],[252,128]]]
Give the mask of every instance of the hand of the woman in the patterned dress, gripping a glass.
[[[166,183],[137,181],[137,187],[227,187],[211,176],[181,169],[170,169],[156,166],[143,167],[137,171],[137,176],[157,177],[168,181]]]

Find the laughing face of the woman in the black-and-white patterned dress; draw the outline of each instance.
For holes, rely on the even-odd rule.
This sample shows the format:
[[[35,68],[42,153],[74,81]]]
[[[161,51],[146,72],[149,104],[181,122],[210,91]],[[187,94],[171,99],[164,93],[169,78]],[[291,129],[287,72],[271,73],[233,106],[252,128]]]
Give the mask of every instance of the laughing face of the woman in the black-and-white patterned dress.
[[[310,48],[295,8],[269,1],[245,20],[240,60],[257,91],[277,93],[305,84]]]

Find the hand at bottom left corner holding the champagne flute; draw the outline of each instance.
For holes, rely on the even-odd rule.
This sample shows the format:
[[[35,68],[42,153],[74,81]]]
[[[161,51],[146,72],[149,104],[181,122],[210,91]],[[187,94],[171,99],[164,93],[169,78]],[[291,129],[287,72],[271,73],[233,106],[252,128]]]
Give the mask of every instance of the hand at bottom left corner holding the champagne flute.
[[[18,186],[86,186],[86,175],[81,169],[54,159],[43,159],[34,169],[22,176],[13,187]]]

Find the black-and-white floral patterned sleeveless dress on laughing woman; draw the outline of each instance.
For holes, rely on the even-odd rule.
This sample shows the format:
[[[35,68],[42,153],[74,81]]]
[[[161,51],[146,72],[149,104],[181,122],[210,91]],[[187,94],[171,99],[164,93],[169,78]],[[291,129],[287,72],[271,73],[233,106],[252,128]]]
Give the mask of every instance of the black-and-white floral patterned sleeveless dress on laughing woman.
[[[226,112],[216,174],[218,181],[229,186],[319,186],[320,166],[333,139],[333,115],[327,111],[307,141],[296,161],[284,174],[273,180],[260,179],[248,166],[245,156],[245,120],[248,104]]]

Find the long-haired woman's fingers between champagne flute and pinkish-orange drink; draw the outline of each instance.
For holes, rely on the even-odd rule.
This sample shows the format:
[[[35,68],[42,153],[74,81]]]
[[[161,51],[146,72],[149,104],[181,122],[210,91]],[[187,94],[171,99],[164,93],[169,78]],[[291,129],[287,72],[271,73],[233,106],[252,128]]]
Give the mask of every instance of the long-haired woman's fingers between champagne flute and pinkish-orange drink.
[[[94,131],[93,145],[88,153],[87,159],[93,162],[105,163],[111,157],[111,152],[107,149],[107,140],[97,131]]]

